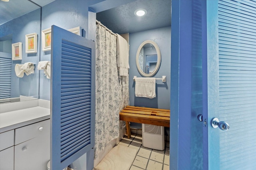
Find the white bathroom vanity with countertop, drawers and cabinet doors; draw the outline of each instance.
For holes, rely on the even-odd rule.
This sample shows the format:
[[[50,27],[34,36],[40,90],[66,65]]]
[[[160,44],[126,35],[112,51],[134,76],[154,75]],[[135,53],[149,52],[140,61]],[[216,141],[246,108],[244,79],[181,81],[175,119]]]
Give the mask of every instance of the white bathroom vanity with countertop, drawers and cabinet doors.
[[[50,102],[0,106],[0,169],[46,170],[50,160]]]

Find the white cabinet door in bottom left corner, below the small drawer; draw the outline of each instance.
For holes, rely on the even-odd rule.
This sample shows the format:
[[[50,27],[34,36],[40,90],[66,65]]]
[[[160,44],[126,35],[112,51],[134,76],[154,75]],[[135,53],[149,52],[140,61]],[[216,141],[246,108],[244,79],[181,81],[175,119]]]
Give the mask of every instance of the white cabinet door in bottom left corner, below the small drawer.
[[[0,170],[13,170],[14,147],[0,151]]]

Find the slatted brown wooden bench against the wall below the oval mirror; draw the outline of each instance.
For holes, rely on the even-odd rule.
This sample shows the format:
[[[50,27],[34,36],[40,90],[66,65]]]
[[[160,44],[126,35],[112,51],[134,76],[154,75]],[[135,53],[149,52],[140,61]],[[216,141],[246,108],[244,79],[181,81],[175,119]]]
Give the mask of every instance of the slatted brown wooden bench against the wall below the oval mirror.
[[[126,122],[127,137],[131,137],[129,122],[170,127],[170,110],[150,107],[126,106],[120,113],[119,119]]]

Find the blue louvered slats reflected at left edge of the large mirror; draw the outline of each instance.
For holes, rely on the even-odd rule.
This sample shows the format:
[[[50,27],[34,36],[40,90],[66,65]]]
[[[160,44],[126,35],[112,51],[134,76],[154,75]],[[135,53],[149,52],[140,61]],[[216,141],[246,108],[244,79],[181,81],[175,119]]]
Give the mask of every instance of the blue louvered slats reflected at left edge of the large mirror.
[[[0,57],[0,99],[11,97],[12,59]]]

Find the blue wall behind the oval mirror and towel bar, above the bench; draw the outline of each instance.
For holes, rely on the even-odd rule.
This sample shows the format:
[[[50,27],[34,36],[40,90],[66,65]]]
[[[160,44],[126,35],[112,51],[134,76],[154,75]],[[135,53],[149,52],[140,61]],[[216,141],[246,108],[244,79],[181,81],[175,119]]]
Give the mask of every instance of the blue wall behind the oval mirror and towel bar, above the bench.
[[[135,97],[135,82],[133,76],[142,77],[136,67],[136,53],[138,47],[143,41],[154,41],[161,52],[161,64],[158,72],[153,76],[162,78],[166,76],[166,82],[156,80],[156,98]],[[170,63],[171,63],[171,26],[149,29],[136,33],[130,33],[130,57],[129,57],[129,95],[130,106],[153,107],[161,109],[170,109]]]

